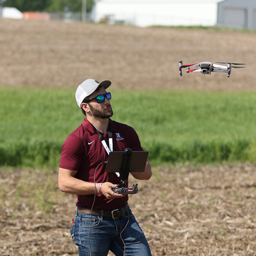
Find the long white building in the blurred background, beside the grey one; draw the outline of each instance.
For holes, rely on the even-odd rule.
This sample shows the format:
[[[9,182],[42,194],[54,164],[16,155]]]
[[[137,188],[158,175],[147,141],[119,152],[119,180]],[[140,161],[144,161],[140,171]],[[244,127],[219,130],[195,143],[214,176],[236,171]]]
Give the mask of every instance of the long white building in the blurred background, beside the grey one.
[[[95,22],[134,26],[216,26],[223,0],[96,0]]]

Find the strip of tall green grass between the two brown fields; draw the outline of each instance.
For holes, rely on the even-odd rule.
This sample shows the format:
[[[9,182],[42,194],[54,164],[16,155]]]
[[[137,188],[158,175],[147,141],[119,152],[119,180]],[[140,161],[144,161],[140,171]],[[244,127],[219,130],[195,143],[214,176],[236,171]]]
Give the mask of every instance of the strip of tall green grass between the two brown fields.
[[[111,90],[152,164],[256,162],[256,92]],[[0,88],[0,165],[57,167],[84,116],[74,89]]]

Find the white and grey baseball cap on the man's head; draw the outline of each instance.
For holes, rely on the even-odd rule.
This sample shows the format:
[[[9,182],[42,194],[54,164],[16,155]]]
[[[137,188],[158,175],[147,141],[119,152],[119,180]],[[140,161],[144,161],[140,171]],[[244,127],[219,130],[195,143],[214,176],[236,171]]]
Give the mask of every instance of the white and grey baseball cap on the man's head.
[[[109,80],[104,80],[99,83],[94,79],[86,79],[77,87],[77,91],[75,92],[75,99],[77,101],[78,107],[81,107],[83,99],[91,95],[99,85],[102,85],[105,89],[107,89],[111,85],[111,82]]]

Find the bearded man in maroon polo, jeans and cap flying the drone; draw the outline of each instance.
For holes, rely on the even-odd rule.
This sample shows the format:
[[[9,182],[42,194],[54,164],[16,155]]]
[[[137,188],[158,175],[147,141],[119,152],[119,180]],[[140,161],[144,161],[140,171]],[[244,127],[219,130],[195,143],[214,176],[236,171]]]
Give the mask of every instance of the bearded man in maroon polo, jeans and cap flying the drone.
[[[87,79],[77,88],[76,101],[86,117],[62,146],[59,188],[77,195],[70,233],[79,255],[107,256],[110,250],[116,256],[150,256],[146,237],[127,204],[128,195],[113,191],[120,178],[105,171],[110,151],[142,150],[133,128],[110,119],[111,94],[106,92],[110,85],[109,80]],[[149,161],[143,172],[131,174],[149,179]]]

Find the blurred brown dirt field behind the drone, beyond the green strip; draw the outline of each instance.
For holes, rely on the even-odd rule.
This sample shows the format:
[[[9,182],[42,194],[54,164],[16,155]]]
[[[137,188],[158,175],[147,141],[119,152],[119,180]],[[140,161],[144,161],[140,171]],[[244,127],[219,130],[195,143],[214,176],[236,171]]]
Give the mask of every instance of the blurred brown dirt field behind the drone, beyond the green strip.
[[[256,33],[0,19],[0,85],[256,89]],[[178,62],[246,63],[227,74],[179,76]]]

